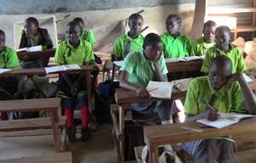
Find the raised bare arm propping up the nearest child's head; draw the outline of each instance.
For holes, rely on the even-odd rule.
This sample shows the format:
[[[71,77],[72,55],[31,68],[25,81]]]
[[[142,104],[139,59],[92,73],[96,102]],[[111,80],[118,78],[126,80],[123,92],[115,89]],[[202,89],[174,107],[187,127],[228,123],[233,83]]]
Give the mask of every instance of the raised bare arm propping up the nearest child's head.
[[[244,104],[247,112],[251,115],[256,115],[256,98],[252,89],[249,87],[244,77],[242,76],[242,73],[238,72],[232,75],[227,85],[229,85],[230,82],[236,82],[236,81],[239,82],[240,84],[241,91],[244,97]]]

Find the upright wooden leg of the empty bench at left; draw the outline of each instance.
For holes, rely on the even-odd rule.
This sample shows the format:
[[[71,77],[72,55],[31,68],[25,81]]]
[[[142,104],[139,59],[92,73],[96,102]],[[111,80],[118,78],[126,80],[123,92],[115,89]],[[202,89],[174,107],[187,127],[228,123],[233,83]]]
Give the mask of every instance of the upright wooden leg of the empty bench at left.
[[[58,127],[58,120],[56,117],[58,117],[58,111],[53,111],[51,112],[51,123],[52,123],[52,132],[53,136],[55,139],[55,152],[60,152],[61,151],[61,137],[60,137],[60,132],[59,132],[59,127]]]

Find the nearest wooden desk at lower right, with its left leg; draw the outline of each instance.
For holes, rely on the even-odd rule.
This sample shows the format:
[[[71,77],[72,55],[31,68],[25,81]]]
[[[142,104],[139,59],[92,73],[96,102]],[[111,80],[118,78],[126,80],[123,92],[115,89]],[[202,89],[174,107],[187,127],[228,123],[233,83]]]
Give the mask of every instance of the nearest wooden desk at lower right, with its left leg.
[[[201,132],[192,132],[183,129],[182,126],[199,129]],[[144,142],[149,149],[150,162],[156,163],[159,157],[158,146],[162,144],[183,143],[220,136],[236,136],[237,134],[252,132],[256,132],[256,117],[221,129],[191,121],[163,126],[144,126]]]

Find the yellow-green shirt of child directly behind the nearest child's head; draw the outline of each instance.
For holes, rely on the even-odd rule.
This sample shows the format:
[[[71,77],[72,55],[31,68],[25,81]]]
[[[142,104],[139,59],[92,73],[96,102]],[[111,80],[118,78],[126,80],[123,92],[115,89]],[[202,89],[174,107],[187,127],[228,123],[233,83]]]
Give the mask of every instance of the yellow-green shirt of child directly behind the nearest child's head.
[[[207,73],[210,69],[212,60],[216,56],[221,54],[226,55],[231,59],[233,64],[233,69],[232,69],[233,74],[236,72],[245,72],[247,70],[241,51],[238,48],[236,48],[235,45],[230,44],[230,50],[227,53],[224,53],[223,51],[219,50],[218,48],[216,48],[216,46],[209,48],[207,50],[207,54],[203,62],[203,65],[201,66],[201,71]]]

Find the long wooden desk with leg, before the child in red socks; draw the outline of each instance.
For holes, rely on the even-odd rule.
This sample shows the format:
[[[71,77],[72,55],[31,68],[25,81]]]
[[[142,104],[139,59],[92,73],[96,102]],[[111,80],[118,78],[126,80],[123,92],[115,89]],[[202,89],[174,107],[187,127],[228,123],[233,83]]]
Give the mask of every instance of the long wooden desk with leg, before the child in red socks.
[[[84,73],[85,78],[86,78],[86,89],[88,91],[88,104],[89,104],[89,110],[91,111],[92,109],[92,100],[91,100],[91,82],[90,82],[90,72],[93,70],[92,65],[84,65],[80,70],[66,70],[65,72],[70,72],[70,73],[76,73],[76,72],[81,72]],[[52,74],[60,74],[63,71],[58,71],[54,72]],[[33,68],[33,69],[15,69],[11,70],[5,73],[0,74],[0,79],[1,77],[10,77],[10,76],[33,76],[33,75],[38,75],[38,76],[45,76],[47,75],[44,68]]]

